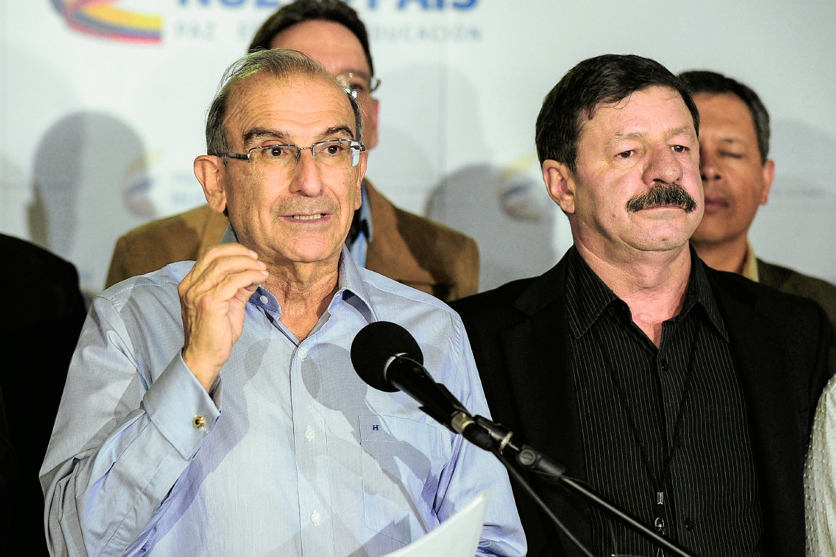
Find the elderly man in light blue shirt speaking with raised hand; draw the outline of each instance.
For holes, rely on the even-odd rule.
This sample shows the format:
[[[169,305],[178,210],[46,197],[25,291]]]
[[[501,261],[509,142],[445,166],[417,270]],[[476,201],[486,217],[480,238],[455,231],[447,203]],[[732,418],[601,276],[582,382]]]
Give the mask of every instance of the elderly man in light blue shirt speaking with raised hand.
[[[398,322],[488,412],[458,316],[344,250],[361,138],[354,99],[303,54],[227,72],[195,173],[230,228],[95,299],[41,470],[54,555],[384,555],[488,488],[478,553],[525,554],[492,455],[354,373],[354,335]]]

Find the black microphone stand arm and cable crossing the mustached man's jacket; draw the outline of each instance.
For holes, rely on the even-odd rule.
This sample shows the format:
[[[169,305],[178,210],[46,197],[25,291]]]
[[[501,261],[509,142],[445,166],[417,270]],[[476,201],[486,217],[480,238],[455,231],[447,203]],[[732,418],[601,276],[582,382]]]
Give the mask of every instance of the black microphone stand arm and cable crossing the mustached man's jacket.
[[[541,508],[543,508],[543,510],[548,514],[549,518],[558,524],[560,529],[562,529],[565,534],[568,534],[568,538],[571,539],[574,544],[578,545],[585,554],[589,554],[589,551],[580,544],[578,539],[568,533],[566,528],[553,514],[551,509],[548,509],[548,506],[543,503],[536,493],[534,493],[533,489],[530,485],[528,485],[525,479],[523,479],[522,475],[510,466],[506,457],[510,457],[520,468],[538,474],[538,476],[543,478],[549,484],[561,485],[573,494],[579,495],[580,498],[584,499],[587,503],[603,510],[606,514],[609,514],[609,516],[618,520],[621,524],[624,524],[624,526],[633,530],[636,534],[650,540],[650,542],[669,552],[671,555],[677,555],[679,557],[695,557],[695,555],[687,549],[683,549],[670,539],[665,538],[665,536],[662,536],[654,529],[650,528],[647,524],[641,522],[639,519],[636,519],[630,513],[621,509],[618,505],[604,499],[604,496],[597,493],[588,485],[565,475],[566,468],[561,464],[550,460],[546,455],[529,447],[528,445],[517,447],[517,445],[511,442],[513,433],[508,428],[505,428],[498,423],[493,423],[487,418],[482,418],[482,416],[471,417],[466,412],[456,413],[451,420],[451,425],[456,432],[461,433],[462,437],[466,438],[471,443],[476,444],[479,448],[483,448],[496,455],[500,462],[508,468],[509,473],[512,473],[514,478],[523,484],[523,489],[525,489],[528,494],[535,499]]]

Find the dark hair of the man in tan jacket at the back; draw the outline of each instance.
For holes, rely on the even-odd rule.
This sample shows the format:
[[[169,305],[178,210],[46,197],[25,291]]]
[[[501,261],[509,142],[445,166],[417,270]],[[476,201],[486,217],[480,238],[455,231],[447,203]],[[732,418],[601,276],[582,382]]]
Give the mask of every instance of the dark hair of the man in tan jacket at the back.
[[[261,28],[252,38],[249,52],[256,50],[268,50],[273,38],[282,33],[285,29],[293,27],[297,23],[324,19],[332,21],[349,29],[360,42],[366,61],[369,63],[369,70],[375,75],[375,64],[371,61],[371,49],[369,48],[369,33],[366,32],[364,23],[360,20],[354,8],[342,0],[296,0],[278,8],[268,20],[262,23]]]

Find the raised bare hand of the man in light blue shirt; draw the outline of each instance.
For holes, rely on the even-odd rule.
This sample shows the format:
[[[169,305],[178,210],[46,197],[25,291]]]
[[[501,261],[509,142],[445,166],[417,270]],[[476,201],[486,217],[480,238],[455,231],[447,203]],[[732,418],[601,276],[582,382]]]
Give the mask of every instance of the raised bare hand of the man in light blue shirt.
[[[267,276],[255,251],[224,244],[207,251],[177,287],[183,361],[206,391],[241,337],[247,300]]]

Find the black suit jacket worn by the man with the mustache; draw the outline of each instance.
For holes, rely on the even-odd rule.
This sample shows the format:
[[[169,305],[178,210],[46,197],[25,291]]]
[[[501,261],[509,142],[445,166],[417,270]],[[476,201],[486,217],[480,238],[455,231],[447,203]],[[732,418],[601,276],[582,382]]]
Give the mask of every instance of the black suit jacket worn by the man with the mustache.
[[[747,404],[763,508],[765,555],[804,555],[803,465],[818,396],[830,375],[833,331],[815,303],[742,276],[706,268],[729,332]],[[571,367],[566,259],[542,276],[451,303],[470,337],[492,417],[585,479],[584,446]],[[532,478],[584,544],[584,504]],[[514,496],[529,555],[580,555],[522,490]]]

